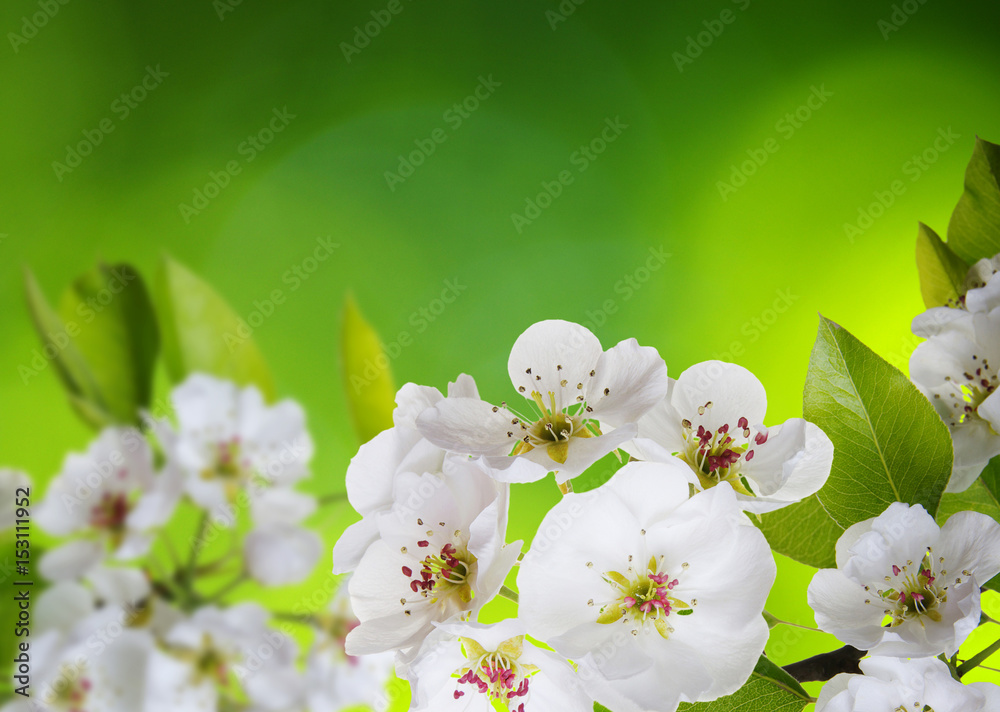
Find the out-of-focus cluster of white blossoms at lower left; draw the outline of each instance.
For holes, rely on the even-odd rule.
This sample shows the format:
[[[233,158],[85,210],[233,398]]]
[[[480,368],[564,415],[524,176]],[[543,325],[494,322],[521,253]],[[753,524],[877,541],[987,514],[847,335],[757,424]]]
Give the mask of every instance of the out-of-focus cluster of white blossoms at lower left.
[[[358,625],[346,587],[325,611],[297,605],[280,617],[223,602],[246,582],[300,582],[320,560],[321,539],[303,523],[317,500],[294,489],[313,454],[301,407],[201,374],[179,384],[170,405],[172,418],[144,418],[154,438],[110,427],[66,456],[32,508],[58,538],[39,562],[52,585],[33,602],[31,697],[2,712],[378,703],[391,656],[346,653]],[[5,493],[29,484],[0,470]],[[8,514],[0,530],[13,526]],[[191,532],[185,521],[200,524]],[[300,651],[293,633],[303,631],[310,642]]]

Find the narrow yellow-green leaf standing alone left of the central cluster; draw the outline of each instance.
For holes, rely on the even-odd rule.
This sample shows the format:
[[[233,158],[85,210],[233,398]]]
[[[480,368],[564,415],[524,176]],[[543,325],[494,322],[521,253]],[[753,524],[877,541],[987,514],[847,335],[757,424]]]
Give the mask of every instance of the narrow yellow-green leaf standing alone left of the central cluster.
[[[396,387],[382,341],[350,294],[344,300],[342,328],[340,350],[347,407],[354,431],[364,443],[392,427]]]

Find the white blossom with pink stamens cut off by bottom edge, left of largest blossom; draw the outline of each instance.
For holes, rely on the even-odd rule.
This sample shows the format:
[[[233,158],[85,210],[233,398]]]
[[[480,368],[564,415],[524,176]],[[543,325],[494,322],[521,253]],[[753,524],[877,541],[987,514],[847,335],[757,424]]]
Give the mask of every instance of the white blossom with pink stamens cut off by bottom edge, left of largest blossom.
[[[493,625],[443,623],[410,667],[414,712],[591,712],[573,668],[525,640],[516,619]]]

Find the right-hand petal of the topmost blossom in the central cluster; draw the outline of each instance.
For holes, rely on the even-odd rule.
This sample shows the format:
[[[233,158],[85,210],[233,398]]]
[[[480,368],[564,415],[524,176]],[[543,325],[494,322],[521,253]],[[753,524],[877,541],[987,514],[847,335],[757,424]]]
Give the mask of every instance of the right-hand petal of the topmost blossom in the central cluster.
[[[667,395],[667,365],[656,349],[635,339],[601,354],[596,371],[586,396],[602,425],[634,423]]]

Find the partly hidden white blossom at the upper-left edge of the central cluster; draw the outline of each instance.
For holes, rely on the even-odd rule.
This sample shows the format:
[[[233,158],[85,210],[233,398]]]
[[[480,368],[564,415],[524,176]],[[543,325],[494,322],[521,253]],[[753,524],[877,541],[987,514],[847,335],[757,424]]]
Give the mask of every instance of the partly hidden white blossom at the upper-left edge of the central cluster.
[[[479,398],[476,383],[462,374],[448,384],[448,398]],[[347,498],[362,516],[337,541],[333,550],[333,573],[357,568],[365,550],[378,538],[378,514],[392,507],[392,488],[397,474],[440,472],[445,451],[417,430],[416,418],[444,397],[436,388],[407,383],[396,394],[393,427],[383,430],[361,446],[347,467]]]

